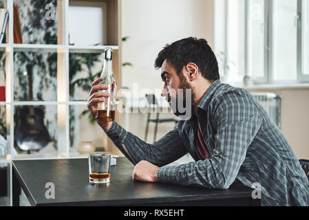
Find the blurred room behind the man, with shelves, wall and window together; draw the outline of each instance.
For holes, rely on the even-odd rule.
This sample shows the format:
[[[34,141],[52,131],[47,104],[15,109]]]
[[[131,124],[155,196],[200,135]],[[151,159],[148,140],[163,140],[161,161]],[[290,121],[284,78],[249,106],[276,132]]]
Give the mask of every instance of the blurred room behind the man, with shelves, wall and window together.
[[[12,204],[12,159],[122,156],[87,109],[107,46],[116,121],[140,139],[153,143],[177,123],[154,61],[195,36],[215,52],[222,83],[248,89],[309,159],[308,0],[0,0],[0,28],[0,206]]]

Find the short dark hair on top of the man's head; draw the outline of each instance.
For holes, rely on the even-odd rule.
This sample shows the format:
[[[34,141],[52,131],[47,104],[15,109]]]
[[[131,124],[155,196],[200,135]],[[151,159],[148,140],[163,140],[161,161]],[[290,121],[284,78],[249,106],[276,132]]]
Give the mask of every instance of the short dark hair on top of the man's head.
[[[220,79],[217,58],[204,39],[189,37],[166,45],[155,61],[156,69],[162,67],[164,61],[175,67],[178,75],[188,63],[198,65],[202,76],[213,81]]]

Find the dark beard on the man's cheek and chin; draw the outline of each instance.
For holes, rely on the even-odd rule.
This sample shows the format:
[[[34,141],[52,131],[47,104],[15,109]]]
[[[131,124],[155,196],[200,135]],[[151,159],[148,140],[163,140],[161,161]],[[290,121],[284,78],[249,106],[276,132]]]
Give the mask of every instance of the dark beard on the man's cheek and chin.
[[[182,72],[180,73],[179,78],[180,78],[180,90],[176,91],[176,94],[175,94],[176,96],[173,96],[176,98],[169,98],[171,101],[171,109],[173,113],[177,116],[181,117],[183,115],[189,114],[187,116],[191,117],[191,113],[193,112],[192,111],[193,110],[193,100],[194,100],[195,94],[193,94],[193,89],[191,85],[189,85],[187,79],[184,78]],[[190,94],[187,94],[188,89],[189,91],[191,91]],[[178,92],[181,92],[182,95],[178,94]],[[187,100],[187,98],[189,98],[189,100]]]

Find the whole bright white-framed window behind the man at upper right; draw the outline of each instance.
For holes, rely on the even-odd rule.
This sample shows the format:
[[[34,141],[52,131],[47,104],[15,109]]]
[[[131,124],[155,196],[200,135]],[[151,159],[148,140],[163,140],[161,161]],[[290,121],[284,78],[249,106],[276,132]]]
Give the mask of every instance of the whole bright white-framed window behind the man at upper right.
[[[256,84],[309,82],[308,0],[222,0],[215,12],[216,41],[225,26],[225,42],[215,42],[215,52],[227,83],[247,77]]]

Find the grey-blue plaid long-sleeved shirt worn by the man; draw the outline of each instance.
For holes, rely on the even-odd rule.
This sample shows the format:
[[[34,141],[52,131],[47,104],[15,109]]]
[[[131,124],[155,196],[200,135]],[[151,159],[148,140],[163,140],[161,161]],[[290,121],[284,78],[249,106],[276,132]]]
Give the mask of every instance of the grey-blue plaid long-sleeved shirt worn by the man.
[[[198,120],[209,159],[194,144]],[[160,182],[227,189],[237,179],[248,187],[262,186],[262,206],[309,206],[309,181],[286,137],[248,91],[220,80],[200,100],[198,117],[179,121],[153,144],[116,122],[106,133],[133,164],[147,160],[160,166]],[[165,166],[187,153],[195,162]]]

